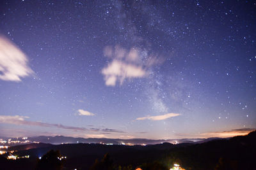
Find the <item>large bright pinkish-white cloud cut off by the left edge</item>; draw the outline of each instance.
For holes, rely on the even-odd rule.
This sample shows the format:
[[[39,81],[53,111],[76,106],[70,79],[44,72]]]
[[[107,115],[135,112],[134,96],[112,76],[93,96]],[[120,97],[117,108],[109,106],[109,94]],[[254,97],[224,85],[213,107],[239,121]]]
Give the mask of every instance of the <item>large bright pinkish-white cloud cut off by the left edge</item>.
[[[28,57],[11,41],[0,36],[0,80],[21,81],[34,72],[28,66]]]

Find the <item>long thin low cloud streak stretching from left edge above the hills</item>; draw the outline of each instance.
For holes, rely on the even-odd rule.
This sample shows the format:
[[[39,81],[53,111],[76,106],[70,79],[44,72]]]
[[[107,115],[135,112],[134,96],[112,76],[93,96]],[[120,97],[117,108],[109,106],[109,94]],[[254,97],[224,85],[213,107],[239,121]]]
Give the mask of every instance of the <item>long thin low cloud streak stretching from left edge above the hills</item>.
[[[13,124],[13,125],[33,125],[33,126],[40,126],[40,127],[56,127],[56,128],[60,128],[60,129],[67,129],[67,130],[73,130],[73,131],[124,132],[124,131],[120,131],[118,129],[108,129],[108,128],[87,129],[85,127],[74,127],[74,126],[68,126],[68,125],[62,125],[62,124],[49,124],[49,123],[44,123],[44,122],[35,122],[35,121],[26,120],[28,118],[29,117],[23,117],[23,116],[19,116],[19,115],[15,115],[15,116],[0,115],[0,123]]]

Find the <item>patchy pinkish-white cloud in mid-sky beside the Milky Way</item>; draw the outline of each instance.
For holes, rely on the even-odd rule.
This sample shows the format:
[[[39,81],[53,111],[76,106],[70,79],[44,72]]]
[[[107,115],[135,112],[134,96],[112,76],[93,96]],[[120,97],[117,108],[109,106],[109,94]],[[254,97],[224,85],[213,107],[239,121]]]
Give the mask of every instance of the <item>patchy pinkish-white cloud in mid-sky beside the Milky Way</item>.
[[[115,86],[116,83],[122,83],[125,79],[142,78],[148,75],[149,67],[158,64],[152,62],[156,57],[148,56],[145,50],[139,48],[131,48],[125,50],[121,46],[106,46],[103,50],[104,55],[111,59],[108,66],[105,66],[101,73],[104,75],[105,84],[107,86]],[[150,64],[148,64],[148,62]]]

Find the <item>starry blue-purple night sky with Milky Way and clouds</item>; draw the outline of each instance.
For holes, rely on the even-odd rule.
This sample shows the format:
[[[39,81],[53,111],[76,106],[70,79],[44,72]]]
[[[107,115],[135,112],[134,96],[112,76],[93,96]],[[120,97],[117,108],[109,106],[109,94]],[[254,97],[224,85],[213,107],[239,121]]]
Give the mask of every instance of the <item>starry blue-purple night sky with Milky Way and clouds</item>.
[[[255,1],[0,3],[0,136],[256,128]]]

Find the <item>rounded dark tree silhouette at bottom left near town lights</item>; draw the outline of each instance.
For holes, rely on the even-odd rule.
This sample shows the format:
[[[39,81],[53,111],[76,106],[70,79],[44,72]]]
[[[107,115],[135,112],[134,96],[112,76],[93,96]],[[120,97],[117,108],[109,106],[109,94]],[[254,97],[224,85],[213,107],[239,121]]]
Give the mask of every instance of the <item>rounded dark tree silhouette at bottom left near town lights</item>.
[[[60,170],[63,169],[63,160],[58,158],[61,157],[60,151],[50,150],[45,153],[41,159],[38,159],[38,164],[36,166],[37,170],[40,169],[51,169],[51,170]]]

